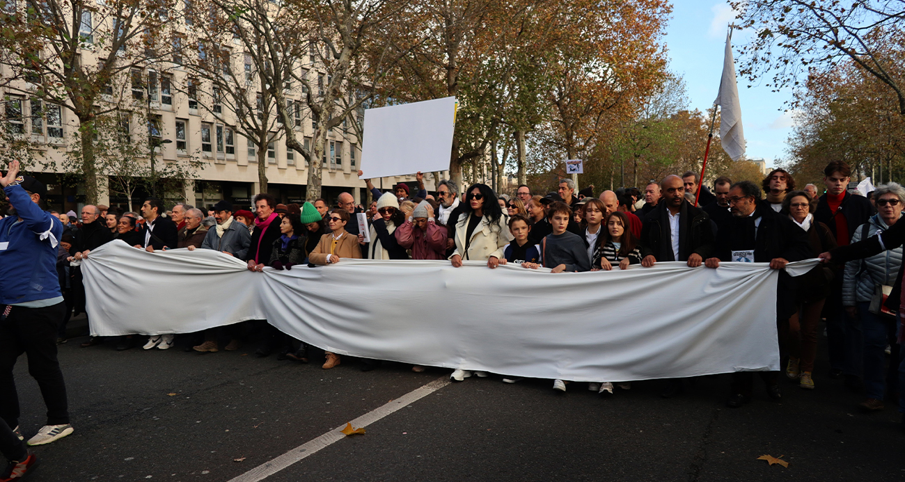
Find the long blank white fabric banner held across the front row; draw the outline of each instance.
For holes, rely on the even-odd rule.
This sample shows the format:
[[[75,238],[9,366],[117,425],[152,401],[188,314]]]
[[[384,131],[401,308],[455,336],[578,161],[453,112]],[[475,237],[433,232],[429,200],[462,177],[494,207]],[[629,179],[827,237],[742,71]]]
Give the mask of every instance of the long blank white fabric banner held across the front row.
[[[114,241],[82,270],[94,336],[266,318],[337,354],[513,376],[619,382],[779,370],[777,272],[767,263],[552,274],[341,260],[254,273],[213,250],[148,253]]]

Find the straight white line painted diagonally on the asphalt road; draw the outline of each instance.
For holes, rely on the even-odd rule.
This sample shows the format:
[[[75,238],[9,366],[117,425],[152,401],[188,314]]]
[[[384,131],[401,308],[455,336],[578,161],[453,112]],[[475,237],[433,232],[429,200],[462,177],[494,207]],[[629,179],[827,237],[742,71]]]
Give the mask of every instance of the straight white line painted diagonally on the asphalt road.
[[[437,380],[434,380],[431,383],[427,383],[424,386],[414,389],[412,392],[405,393],[405,395],[391,402],[386,402],[385,405],[378,407],[373,411],[368,411],[366,414],[358,417],[350,423],[356,429],[359,427],[367,427],[371,423],[383,419],[387,415],[398,411],[406,405],[410,405],[413,402],[421,400],[427,395],[440,390],[448,384],[450,384],[449,375],[445,375],[438,378]],[[264,462],[260,466],[252,468],[241,476],[230,479],[229,482],[258,482],[260,480],[263,480],[264,478],[270,477],[273,474],[281,471],[283,468],[287,468],[292,464],[300,461],[302,458],[309,457],[319,449],[324,449],[341,439],[345,439],[346,434],[339,431],[345,428],[346,424],[343,423],[336,429],[330,430],[317,439],[312,439],[308,442],[305,442],[299,447],[291,449],[290,451],[282,454],[280,457],[273,458],[272,460]]]

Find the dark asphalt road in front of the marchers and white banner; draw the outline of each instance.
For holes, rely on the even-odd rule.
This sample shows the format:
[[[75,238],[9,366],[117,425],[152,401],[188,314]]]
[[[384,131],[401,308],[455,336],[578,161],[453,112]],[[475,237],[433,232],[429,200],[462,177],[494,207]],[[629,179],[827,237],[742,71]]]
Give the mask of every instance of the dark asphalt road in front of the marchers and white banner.
[[[259,359],[253,345],[116,352],[83,339],[60,349],[75,432],[34,449],[30,481],[226,481],[449,373],[366,373],[353,360],[322,370],[322,354]],[[900,414],[891,403],[860,413],[860,396],[826,370],[818,364],[813,392],[784,380],[781,403],[758,379],[741,409],[723,404],[729,375],[668,400],[659,381],[604,399],[585,383],[560,393],[546,380],[472,377],[265,480],[905,480]],[[45,409],[24,357],[15,373],[28,437]]]

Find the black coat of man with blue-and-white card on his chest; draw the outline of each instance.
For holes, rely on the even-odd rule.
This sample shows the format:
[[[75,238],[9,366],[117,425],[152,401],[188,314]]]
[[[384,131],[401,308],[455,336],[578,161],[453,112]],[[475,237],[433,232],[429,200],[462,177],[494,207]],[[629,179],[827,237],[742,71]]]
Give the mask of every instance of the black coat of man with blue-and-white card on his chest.
[[[760,218],[755,236],[754,221]],[[788,217],[769,207],[757,205],[754,216],[734,217],[723,224],[717,233],[716,257],[732,260],[733,250],[754,250],[755,262],[770,262],[776,258],[787,261],[807,260],[813,256],[810,237]],[[798,283],[785,270],[779,272],[776,283],[776,318],[786,319],[795,313],[795,294]]]

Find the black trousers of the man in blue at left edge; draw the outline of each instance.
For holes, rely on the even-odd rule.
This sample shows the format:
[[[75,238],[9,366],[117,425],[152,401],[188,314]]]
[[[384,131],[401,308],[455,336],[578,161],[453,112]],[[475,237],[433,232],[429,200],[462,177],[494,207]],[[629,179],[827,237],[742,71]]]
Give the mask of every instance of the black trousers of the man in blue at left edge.
[[[0,305],[0,309],[5,309]],[[69,423],[66,383],[57,361],[56,336],[66,304],[51,307],[12,307],[0,321],[0,419],[19,425],[19,396],[15,391],[13,367],[20,354],[28,357],[28,373],[41,388],[47,406],[47,425]]]

